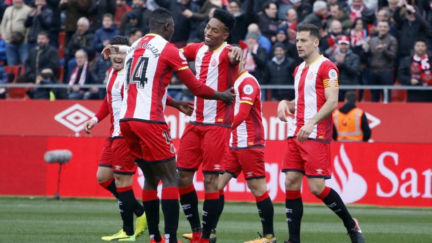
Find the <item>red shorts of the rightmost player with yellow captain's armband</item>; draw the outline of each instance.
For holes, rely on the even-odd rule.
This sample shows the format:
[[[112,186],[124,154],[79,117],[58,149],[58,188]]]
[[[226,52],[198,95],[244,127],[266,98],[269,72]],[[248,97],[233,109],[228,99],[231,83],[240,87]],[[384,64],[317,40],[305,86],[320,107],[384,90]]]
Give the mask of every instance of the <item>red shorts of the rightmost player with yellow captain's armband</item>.
[[[330,143],[288,139],[282,172],[297,171],[309,178],[331,178]]]

